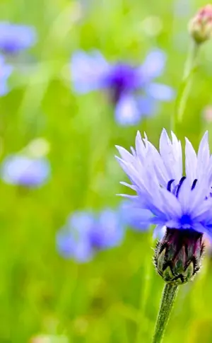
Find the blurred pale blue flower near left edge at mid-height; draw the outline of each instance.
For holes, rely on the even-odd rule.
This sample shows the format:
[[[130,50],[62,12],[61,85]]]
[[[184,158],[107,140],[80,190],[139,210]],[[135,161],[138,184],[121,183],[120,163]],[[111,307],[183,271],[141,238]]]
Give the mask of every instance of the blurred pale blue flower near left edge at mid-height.
[[[1,165],[1,178],[12,185],[37,187],[49,178],[50,165],[46,158],[29,158],[23,155],[6,157]]]

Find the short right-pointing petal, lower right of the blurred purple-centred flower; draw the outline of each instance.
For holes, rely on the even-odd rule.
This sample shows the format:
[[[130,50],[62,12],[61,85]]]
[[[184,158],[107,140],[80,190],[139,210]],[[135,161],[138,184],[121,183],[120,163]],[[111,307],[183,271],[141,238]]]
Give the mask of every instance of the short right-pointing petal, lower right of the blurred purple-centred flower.
[[[175,91],[162,83],[150,83],[145,90],[148,95],[160,101],[170,101],[175,97]]]

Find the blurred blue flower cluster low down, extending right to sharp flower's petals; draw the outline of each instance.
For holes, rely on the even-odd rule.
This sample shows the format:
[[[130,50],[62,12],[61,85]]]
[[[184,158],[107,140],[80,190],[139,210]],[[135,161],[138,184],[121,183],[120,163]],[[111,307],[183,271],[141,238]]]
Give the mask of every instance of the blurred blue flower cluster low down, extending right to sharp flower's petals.
[[[103,209],[99,214],[76,211],[58,232],[57,248],[63,257],[88,262],[98,250],[120,245],[127,226],[148,229],[143,223],[145,216],[149,216],[148,211],[138,211],[129,202],[123,202],[117,210]]]

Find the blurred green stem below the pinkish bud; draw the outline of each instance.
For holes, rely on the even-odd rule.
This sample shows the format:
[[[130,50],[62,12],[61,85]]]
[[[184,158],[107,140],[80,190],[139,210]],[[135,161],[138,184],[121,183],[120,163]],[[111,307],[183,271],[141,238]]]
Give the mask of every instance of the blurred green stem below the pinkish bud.
[[[189,54],[187,57],[187,62],[184,66],[184,74],[182,77],[182,82],[179,86],[179,92],[177,94],[175,102],[175,110],[171,120],[172,130],[175,131],[175,126],[177,122],[182,122],[182,117],[184,115],[184,110],[187,105],[187,100],[189,97],[189,91],[192,86],[192,76],[197,66],[197,57],[199,52],[199,45],[192,42]]]

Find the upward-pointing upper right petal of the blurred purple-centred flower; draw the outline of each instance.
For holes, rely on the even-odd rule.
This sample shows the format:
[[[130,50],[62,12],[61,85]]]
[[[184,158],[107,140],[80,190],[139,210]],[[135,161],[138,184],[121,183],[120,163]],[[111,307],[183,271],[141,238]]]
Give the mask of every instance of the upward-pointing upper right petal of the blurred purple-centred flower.
[[[141,81],[142,76],[146,80],[154,79],[163,73],[166,62],[165,52],[162,50],[154,50],[150,52],[143,65],[140,67]]]

